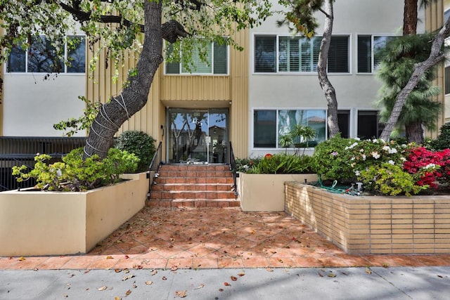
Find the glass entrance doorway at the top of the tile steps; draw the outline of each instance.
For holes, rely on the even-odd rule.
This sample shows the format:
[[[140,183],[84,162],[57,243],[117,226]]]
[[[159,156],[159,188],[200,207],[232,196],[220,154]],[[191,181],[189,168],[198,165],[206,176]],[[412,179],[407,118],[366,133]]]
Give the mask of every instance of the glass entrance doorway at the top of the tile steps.
[[[228,163],[229,110],[169,108],[167,161],[169,164]]]

